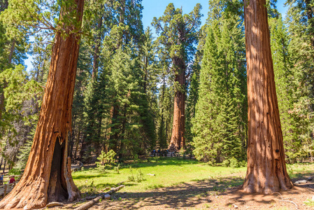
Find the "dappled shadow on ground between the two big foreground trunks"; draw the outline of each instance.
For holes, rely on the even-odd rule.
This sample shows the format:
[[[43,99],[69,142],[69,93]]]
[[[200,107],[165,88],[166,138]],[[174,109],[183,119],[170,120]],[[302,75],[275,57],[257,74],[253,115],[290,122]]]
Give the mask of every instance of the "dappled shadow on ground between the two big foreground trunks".
[[[106,209],[140,209],[145,207],[162,208],[187,208],[195,207],[201,203],[212,202],[212,196],[224,192],[229,186],[241,184],[243,179],[205,179],[191,183],[180,183],[167,188],[158,188],[148,192],[116,193],[115,197],[121,197],[122,201],[106,204]],[[104,204],[97,204],[94,209],[104,208]]]

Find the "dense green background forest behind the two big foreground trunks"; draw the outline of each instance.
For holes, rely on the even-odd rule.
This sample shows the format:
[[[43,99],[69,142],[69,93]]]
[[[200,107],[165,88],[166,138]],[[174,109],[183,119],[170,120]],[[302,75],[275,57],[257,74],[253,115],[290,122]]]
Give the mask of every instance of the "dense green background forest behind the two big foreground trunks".
[[[248,87],[243,1],[169,2],[143,27],[141,0],[0,0],[0,169],[24,169],[58,37],[80,36],[71,160],[119,162],[153,150],[211,165],[247,161]],[[266,1],[286,162],[314,155],[314,1]],[[67,7],[68,6],[68,7]],[[209,8],[201,22],[201,8]],[[74,17],[74,18],[73,18]],[[27,54],[31,70],[25,68]]]

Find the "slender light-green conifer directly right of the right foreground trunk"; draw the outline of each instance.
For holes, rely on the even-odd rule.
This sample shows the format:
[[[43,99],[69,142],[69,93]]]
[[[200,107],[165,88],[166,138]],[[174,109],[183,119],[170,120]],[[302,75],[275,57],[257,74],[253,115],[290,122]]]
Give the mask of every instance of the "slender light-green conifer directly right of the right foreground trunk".
[[[287,29],[280,18],[269,20],[271,31],[271,52],[273,57],[273,70],[276,81],[276,92],[278,97],[278,108],[280,111],[280,122],[283,130],[283,142],[285,154],[289,162],[295,162],[302,157],[302,144],[300,137],[305,135],[308,127],[306,120],[299,118],[294,113],[294,105],[297,105],[299,94],[298,76],[294,75],[294,67],[290,52],[288,52]],[[302,129],[306,125],[306,130]]]

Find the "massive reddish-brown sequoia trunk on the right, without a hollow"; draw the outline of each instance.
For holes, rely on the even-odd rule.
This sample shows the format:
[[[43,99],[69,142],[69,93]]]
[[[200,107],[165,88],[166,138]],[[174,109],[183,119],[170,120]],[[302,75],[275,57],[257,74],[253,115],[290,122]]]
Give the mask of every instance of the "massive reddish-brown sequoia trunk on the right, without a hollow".
[[[266,2],[244,2],[248,65],[248,171],[243,191],[271,194],[293,185],[285,166]]]

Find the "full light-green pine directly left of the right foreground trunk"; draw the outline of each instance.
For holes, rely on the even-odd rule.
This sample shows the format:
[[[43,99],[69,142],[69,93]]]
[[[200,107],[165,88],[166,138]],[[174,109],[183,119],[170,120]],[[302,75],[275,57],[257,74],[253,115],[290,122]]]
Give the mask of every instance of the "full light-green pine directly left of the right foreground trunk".
[[[192,120],[194,155],[213,163],[232,157],[240,161],[246,136],[243,23],[224,13],[226,1],[210,3],[199,101]]]

